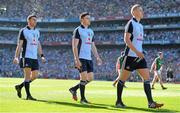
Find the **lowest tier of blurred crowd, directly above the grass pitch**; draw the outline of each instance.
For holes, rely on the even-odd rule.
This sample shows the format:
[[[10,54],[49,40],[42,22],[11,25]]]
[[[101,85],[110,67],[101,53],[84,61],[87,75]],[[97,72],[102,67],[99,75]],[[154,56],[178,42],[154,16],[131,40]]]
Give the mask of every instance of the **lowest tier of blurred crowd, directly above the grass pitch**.
[[[71,47],[45,47],[44,55],[47,59],[46,64],[40,62],[40,77],[42,78],[60,78],[60,79],[79,79],[78,71],[74,68],[73,54]],[[117,76],[115,72],[115,63],[124,48],[98,48],[103,64],[98,66],[94,60],[95,79],[114,80]],[[177,80],[180,80],[180,49],[179,48],[162,48],[146,47],[145,55],[148,67],[157,57],[158,51],[164,53],[163,80],[166,80],[166,69],[171,66],[173,74]],[[14,46],[0,48],[0,76],[2,77],[23,77],[22,70],[19,66],[12,64],[15,53]],[[153,76],[151,76],[152,79]],[[133,72],[130,77],[131,81],[140,81],[141,78]]]

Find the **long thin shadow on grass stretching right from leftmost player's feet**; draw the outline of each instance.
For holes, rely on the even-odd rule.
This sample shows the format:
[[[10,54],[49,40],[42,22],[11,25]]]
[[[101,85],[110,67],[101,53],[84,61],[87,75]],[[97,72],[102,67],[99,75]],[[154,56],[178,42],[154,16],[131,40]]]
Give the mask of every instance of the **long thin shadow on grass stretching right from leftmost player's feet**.
[[[66,105],[72,107],[80,107],[80,108],[93,108],[93,109],[106,109],[106,110],[118,110],[123,111],[122,109],[115,109],[110,107],[109,105],[98,105],[98,104],[79,104],[77,103],[69,103],[69,102],[59,102],[59,101],[52,101],[52,100],[36,100],[39,102],[45,102],[48,104],[58,104],[58,105]]]

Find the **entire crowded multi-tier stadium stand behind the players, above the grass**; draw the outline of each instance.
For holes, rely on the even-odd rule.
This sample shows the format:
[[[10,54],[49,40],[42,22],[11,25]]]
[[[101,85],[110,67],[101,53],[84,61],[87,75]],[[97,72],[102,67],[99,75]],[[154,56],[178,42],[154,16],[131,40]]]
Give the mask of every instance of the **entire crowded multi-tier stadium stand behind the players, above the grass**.
[[[180,81],[180,1],[179,0],[0,0],[0,77],[23,77],[12,60],[20,28],[26,17],[35,13],[41,32],[41,43],[47,58],[40,65],[41,78],[78,79],[71,50],[72,32],[79,23],[78,15],[87,11],[92,16],[95,43],[103,60],[95,63],[95,79],[114,80],[115,63],[124,49],[124,26],[130,7],[139,3],[144,9],[144,48],[150,67],[158,51],[164,52],[166,69],[172,66],[175,80]],[[131,81],[141,81],[134,72]],[[152,79],[152,76],[151,76]]]

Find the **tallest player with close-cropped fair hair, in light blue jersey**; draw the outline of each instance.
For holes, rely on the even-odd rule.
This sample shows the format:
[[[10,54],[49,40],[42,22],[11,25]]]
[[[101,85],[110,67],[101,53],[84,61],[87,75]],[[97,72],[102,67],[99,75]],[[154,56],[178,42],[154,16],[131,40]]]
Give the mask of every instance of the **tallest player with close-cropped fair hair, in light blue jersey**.
[[[132,19],[125,27],[124,41],[126,44],[124,50],[124,59],[121,68],[120,78],[117,84],[116,107],[126,107],[122,101],[122,91],[125,81],[129,78],[132,71],[136,70],[143,79],[144,92],[147,97],[149,108],[159,108],[163,104],[154,102],[151,94],[149,70],[143,54],[143,26],[140,20],[143,18],[143,9],[136,4],[131,8]]]

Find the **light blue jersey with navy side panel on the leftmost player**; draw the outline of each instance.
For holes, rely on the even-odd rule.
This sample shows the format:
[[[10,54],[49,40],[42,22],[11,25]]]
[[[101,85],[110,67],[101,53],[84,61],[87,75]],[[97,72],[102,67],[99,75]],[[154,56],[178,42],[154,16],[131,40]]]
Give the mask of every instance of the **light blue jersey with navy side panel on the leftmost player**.
[[[23,40],[20,58],[37,59],[39,37],[39,30],[31,29],[29,26],[20,30],[18,40]]]

